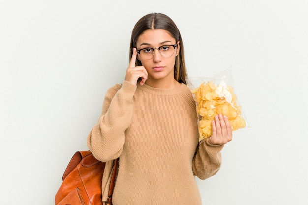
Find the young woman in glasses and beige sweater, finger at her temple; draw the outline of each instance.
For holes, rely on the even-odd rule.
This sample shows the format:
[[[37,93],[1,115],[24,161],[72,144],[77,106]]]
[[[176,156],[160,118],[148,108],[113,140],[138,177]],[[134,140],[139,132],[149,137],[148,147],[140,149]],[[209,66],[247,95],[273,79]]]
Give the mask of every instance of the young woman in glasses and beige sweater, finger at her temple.
[[[201,205],[195,176],[217,173],[232,129],[227,117],[216,116],[212,136],[198,142],[196,104],[186,76],[175,23],[160,13],[142,17],[132,31],[125,79],[107,91],[87,140],[93,155],[107,162],[103,201],[112,160],[120,157],[114,205]]]

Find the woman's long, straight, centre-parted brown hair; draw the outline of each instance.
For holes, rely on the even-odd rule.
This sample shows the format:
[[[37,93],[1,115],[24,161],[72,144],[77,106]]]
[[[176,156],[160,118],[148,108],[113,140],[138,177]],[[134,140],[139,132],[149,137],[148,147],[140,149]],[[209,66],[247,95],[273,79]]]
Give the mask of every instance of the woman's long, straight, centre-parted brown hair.
[[[134,26],[131,39],[130,39],[130,52],[129,52],[129,60],[133,54],[133,48],[136,47],[136,42],[139,36],[146,30],[149,29],[163,29],[170,33],[176,40],[176,42],[180,42],[180,52],[176,57],[174,64],[174,78],[180,82],[186,84],[186,76],[187,70],[185,66],[184,60],[184,45],[182,41],[182,37],[180,31],[173,20],[162,13],[150,13],[143,16]],[[141,66],[141,61],[136,59],[136,66]]]

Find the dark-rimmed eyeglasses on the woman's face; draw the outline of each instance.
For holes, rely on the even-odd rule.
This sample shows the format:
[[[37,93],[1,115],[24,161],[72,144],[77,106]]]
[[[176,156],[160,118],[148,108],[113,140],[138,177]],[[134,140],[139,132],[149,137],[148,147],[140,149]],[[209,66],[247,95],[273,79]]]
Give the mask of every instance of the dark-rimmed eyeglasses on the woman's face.
[[[177,46],[178,46],[177,44],[174,44],[174,45],[164,45],[156,48],[143,48],[137,50],[137,53],[139,54],[141,59],[149,60],[153,58],[155,49],[158,49],[161,56],[170,57],[174,54],[174,50]]]

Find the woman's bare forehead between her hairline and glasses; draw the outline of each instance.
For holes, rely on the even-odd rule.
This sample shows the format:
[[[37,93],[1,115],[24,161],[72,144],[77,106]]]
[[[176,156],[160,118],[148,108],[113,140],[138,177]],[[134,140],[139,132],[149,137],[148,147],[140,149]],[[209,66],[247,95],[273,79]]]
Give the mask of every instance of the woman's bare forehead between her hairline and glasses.
[[[142,44],[159,45],[164,42],[176,43],[175,38],[170,33],[163,29],[154,29],[144,31],[137,40],[137,47]]]

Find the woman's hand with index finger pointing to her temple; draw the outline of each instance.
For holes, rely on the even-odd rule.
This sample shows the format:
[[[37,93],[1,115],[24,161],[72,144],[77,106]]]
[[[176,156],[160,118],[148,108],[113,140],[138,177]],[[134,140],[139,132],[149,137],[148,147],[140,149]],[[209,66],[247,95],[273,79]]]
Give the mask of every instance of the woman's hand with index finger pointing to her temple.
[[[135,66],[137,59],[137,49],[133,48],[133,55],[131,56],[129,66],[126,70],[125,81],[137,85],[138,79],[141,78],[140,85],[142,86],[148,79],[148,72],[143,66]]]

